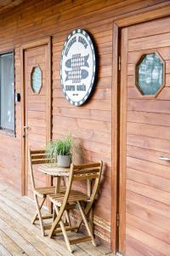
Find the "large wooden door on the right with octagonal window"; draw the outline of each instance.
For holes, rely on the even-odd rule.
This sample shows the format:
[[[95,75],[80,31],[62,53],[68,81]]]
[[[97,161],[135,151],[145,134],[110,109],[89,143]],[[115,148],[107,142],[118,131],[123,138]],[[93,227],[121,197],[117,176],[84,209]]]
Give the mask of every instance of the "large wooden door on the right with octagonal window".
[[[169,24],[122,29],[119,250],[126,256],[170,255]]]

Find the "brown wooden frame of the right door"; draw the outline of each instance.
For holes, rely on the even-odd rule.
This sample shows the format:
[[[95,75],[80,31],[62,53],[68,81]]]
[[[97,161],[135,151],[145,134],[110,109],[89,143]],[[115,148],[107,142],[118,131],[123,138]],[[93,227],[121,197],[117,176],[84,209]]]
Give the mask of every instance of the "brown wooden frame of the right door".
[[[111,90],[111,249],[114,253],[125,253],[125,224],[126,224],[126,102],[127,92],[122,84],[127,79],[126,59],[122,62],[119,72],[119,56],[123,47],[120,47],[120,36],[122,28],[132,26],[145,21],[156,20],[170,15],[170,3],[164,7],[156,4],[155,9],[148,8],[140,10],[140,13],[117,19],[113,22],[113,55],[112,55],[112,90]],[[127,29],[122,33],[127,37]],[[125,45],[126,47],[126,45]],[[124,49],[125,50],[125,49]],[[123,75],[122,75],[123,74]],[[120,117],[121,113],[121,117]],[[121,123],[121,125],[120,125]],[[123,127],[123,129],[122,129]],[[118,227],[117,227],[118,220]]]

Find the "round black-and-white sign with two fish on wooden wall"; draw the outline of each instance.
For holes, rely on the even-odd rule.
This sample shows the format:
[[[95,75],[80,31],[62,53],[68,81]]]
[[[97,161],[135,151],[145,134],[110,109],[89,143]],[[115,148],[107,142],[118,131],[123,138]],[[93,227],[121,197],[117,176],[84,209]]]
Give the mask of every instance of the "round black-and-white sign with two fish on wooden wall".
[[[66,38],[60,60],[60,82],[71,104],[81,106],[88,100],[95,70],[94,44],[87,32],[76,29]]]

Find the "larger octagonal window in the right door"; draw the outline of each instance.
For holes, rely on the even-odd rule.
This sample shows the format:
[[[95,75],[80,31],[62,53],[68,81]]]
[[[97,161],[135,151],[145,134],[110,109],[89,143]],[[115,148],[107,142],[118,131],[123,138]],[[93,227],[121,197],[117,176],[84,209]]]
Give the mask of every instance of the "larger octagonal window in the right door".
[[[164,63],[157,53],[143,55],[136,67],[136,85],[142,95],[154,96],[163,84]]]

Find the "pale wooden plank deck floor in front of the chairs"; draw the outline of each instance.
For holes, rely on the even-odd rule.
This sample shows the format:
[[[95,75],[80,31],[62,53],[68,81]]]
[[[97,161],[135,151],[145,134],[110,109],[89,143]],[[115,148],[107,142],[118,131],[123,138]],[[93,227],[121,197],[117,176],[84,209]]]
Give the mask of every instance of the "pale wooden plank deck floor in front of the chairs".
[[[103,246],[93,247],[89,241],[75,245],[74,253],[70,253],[65,247],[63,236],[57,240],[41,236],[39,227],[30,221],[34,210],[31,200],[0,183],[0,256],[114,255]]]

